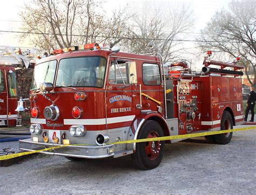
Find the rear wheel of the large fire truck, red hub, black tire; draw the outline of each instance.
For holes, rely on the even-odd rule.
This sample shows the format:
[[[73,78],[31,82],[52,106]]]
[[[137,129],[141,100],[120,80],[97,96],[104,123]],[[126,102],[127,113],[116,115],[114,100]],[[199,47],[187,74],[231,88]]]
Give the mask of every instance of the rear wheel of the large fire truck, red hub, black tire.
[[[224,110],[220,121],[220,130],[227,129],[233,129],[233,119],[230,112]],[[230,143],[232,134],[232,132],[227,134],[217,134],[214,135],[214,138],[217,144],[227,144]]]

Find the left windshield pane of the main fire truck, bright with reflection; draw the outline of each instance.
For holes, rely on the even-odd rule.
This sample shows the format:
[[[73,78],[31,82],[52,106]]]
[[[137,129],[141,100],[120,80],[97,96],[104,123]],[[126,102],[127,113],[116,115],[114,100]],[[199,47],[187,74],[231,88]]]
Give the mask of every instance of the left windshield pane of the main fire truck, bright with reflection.
[[[39,89],[42,82],[53,83],[57,60],[46,61],[35,66],[31,90]]]

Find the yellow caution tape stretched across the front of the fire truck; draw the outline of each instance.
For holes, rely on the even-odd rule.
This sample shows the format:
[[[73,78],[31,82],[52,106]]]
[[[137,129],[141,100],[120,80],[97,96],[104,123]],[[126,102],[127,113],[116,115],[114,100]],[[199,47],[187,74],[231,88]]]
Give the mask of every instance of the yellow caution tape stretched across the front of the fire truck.
[[[122,142],[113,142],[113,143],[109,143],[109,144],[129,144],[129,143],[139,143],[139,142],[180,140],[180,139],[184,139],[184,138],[201,137],[201,136],[217,135],[217,134],[226,134],[226,133],[231,133],[231,132],[234,132],[234,131],[245,131],[245,130],[250,130],[250,129],[256,129],[256,126],[238,128],[238,129],[220,130],[220,131],[208,131],[208,132],[205,132],[205,133],[197,133],[197,134],[172,135],[172,136],[164,136],[164,137],[144,138],[144,139],[139,139],[139,140],[126,140],[126,141],[122,141]],[[87,145],[87,144],[71,144],[71,145],[83,146],[83,145]],[[42,149],[42,150],[35,150],[35,151],[29,151],[29,152],[21,152],[21,153],[12,154],[12,155],[0,156],[0,161],[10,159],[10,158],[16,158],[16,157],[19,157],[19,156],[35,154],[35,153],[41,152],[41,151],[48,151],[48,150],[58,149],[58,148],[66,147],[66,146],[69,146],[69,145],[59,145],[57,147],[51,147],[51,148],[46,148],[46,149]]]

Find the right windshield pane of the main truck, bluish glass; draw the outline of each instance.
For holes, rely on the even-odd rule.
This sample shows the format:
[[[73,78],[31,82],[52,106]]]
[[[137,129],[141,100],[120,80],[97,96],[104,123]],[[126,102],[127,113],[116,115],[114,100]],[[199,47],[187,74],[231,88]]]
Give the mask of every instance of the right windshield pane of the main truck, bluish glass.
[[[102,87],[105,66],[106,59],[102,57],[61,59],[56,86]]]

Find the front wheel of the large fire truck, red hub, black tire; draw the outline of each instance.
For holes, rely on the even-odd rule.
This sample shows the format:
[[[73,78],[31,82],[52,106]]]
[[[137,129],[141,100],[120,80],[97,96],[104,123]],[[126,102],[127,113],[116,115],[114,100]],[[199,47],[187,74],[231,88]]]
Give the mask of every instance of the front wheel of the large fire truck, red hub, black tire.
[[[140,129],[138,139],[162,136],[164,132],[160,124],[149,120]],[[144,170],[156,168],[164,156],[164,143],[164,141],[137,143],[136,151],[132,154],[134,165]]]

